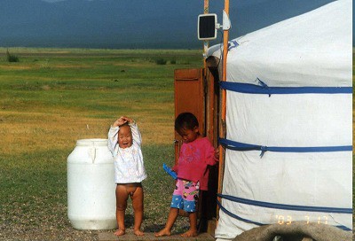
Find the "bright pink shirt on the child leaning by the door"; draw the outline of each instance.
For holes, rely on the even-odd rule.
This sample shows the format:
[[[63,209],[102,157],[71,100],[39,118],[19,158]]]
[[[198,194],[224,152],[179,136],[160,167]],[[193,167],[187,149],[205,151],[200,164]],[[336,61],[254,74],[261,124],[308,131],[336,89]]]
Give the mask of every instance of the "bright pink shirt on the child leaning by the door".
[[[201,190],[208,190],[209,170],[207,166],[217,163],[215,148],[207,137],[182,144],[178,162],[172,169],[177,172],[177,178],[200,182]]]

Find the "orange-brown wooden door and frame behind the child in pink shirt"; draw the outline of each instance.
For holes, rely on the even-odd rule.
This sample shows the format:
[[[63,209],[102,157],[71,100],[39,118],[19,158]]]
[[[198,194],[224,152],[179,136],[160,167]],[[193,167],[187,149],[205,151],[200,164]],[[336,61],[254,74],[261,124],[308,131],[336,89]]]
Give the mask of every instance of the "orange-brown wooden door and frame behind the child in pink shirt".
[[[175,117],[179,113],[193,113],[199,121],[200,133],[209,137],[211,143],[217,147],[218,126],[218,76],[216,73],[203,69],[175,70]],[[216,71],[215,71],[216,72]],[[175,164],[182,144],[182,138],[175,132]],[[216,217],[217,206],[217,166],[209,168],[209,190],[201,191],[198,216],[199,230],[209,231],[209,221]],[[180,215],[186,215],[180,210]],[[212,221],[212,226],[215,222]],[[212,234],[214,229],[210,231]]]

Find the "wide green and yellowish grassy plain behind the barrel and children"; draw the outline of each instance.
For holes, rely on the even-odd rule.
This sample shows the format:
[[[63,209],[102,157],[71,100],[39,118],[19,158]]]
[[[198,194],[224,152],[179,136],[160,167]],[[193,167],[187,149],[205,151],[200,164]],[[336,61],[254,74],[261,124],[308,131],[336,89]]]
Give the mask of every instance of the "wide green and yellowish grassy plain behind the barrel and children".
[[[169,210],[172,181],[160,167],[173,162],[174,69],[201,67],[201,51],[9,51],[20,62],[0,48],[0,240],[97,238],[67,221],[67,156],[78,139],[106,138],[123,114],[142,132],[144,229],[160,229],[152,223]]]

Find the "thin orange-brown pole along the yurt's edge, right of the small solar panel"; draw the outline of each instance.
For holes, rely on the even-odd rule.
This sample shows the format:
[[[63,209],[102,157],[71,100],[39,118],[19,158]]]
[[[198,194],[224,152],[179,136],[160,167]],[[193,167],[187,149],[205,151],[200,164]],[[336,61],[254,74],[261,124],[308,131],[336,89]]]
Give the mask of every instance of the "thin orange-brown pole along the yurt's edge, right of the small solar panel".
[[[225,13],[229,16],[229,0],[225,0]],[[227,69],[227,53],[228,53],[228,35],[229,30],[223,31],[223,66],[222,66],[222,82],[226,81],[226,69]],[[225,116],[226,116],[226,95],[225,89],[222,89],[221,93],[221,123],[219,123],[219,137],[225,138]],[[218,167],[218,193],[222,192],[223,187],[223,175],[225,171],[225,149],[219,144],[219,167]],[[218,198],[221,202],[221,198]],[[219,207],[217,206],[217,217]]]

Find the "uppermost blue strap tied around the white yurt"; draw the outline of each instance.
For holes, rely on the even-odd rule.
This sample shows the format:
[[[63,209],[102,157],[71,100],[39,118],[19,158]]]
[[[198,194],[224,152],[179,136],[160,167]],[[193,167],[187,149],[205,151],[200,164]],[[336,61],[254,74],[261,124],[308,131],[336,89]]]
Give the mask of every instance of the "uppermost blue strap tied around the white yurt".
[[[257,79],[260,85],[240,82],[219,82],[221,89],[247,94],[352,94],[352,87],[269,87]]]

